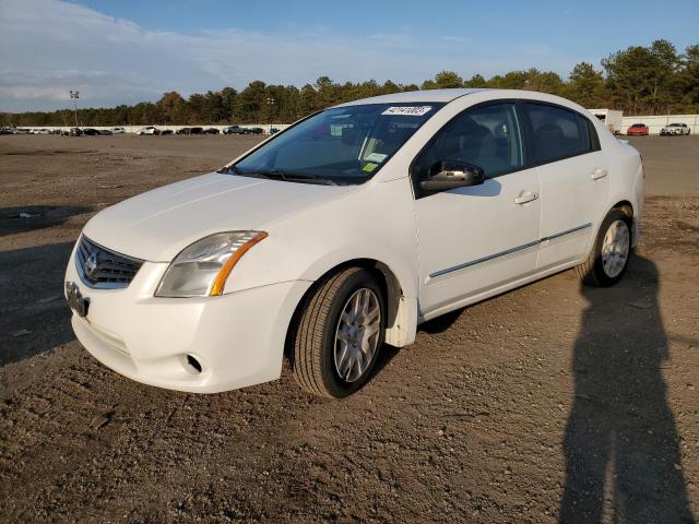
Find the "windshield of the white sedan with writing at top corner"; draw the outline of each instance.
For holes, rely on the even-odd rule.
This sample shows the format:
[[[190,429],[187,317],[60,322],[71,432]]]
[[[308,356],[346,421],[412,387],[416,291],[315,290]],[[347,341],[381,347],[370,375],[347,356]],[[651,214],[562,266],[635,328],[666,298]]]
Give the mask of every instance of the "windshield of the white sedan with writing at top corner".
[[[309,183],[363,183],[443,104],[327,109],[222,172]]]

